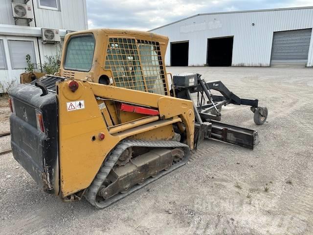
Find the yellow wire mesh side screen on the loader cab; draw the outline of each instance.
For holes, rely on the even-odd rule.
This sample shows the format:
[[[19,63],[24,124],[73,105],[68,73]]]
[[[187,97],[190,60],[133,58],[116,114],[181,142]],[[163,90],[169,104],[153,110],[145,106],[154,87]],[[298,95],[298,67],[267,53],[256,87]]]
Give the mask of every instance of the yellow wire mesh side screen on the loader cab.
[[[168,94],[158,42],[109,38],[105,69],[117,87]]]

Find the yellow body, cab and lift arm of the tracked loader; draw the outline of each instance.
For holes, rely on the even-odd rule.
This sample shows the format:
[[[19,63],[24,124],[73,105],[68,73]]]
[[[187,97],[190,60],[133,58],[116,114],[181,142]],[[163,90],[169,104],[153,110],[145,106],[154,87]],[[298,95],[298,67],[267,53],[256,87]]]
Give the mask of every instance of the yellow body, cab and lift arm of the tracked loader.
[[[91,68],[69,70],[66,58],[73,56],[67,54],[69,42],[82,35],[94,38]],[[193,102],[170,96],[164,63],[167,44],[167,37],[149,32],[95,29],[67,34],[60,68],[60,76],[67,79],[56,85],[59,194],[63,198],[88,188],[108,154],[123,139],[171,140],[173,124],[178,124],[193,149]],[[123,54],[122,50],[134,54]],[[132,62],[131,73],[120,69],[121,63],[126,68],[128,60]],[[99,83],[102,78],[106,84]],[[78,84],[74,92],[70,89],[72,81]],[[69,109],[70,103],[78,101],[84,102],[83,108]],[[121,103],[147,107],[159,114],[124,112],[119,109]]]

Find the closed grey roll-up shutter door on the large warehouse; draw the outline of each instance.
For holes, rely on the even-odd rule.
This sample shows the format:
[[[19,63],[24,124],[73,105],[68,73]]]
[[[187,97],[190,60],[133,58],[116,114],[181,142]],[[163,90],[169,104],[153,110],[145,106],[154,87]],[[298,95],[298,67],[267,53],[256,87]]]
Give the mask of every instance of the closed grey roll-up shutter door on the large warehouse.
[[[273,34],[270,66],[306,66],[312,28]]]

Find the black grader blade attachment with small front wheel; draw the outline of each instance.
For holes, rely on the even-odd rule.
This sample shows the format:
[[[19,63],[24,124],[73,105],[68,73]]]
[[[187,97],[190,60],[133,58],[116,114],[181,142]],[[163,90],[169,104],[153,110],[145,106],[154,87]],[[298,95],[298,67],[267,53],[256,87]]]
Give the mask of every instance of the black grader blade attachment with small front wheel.
[[[228,90],[221,81],[205,82],[201,74],[184,73],[173,76],[173,88],[177,97],[193,100],[192,94],[197,94],[195,111],[195,147],[204,139],[215,139],[242,147],[253,149],[259,143],[258,132],[239,126],[224,124],[222,107],[228,104],[251,106],[254,113],[254,122],[262,125],[268,116],[264,106],[258,107],[257,99],[240,98]],[[211,90],[222,95],[213,95]],[[205,133],[205,134],[203,134]]]

